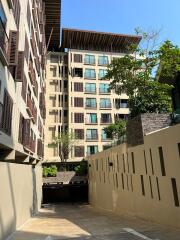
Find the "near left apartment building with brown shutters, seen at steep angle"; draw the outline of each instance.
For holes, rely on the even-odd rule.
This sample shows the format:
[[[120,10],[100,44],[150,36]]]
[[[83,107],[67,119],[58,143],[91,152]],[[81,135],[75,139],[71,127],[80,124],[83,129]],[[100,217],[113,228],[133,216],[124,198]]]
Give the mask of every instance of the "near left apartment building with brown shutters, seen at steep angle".
[[[0,0],[0,160],[43,158],[45,3]]]

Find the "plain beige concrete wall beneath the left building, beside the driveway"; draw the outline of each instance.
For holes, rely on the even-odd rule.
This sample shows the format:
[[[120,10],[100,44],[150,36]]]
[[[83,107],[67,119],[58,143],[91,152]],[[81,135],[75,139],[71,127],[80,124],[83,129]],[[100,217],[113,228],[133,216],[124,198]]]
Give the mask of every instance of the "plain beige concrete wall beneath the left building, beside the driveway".
[[[0,163],[0,240],[35,214],[41,197],[41,166]]]

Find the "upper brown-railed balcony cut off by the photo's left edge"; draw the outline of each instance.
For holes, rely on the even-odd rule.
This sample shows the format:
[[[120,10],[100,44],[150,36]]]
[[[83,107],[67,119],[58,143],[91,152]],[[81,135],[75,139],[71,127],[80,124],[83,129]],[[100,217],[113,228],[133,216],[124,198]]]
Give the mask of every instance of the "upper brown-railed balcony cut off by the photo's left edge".
[[[0,21],[0,60],[4,66],[8,65],[8,37]]]

